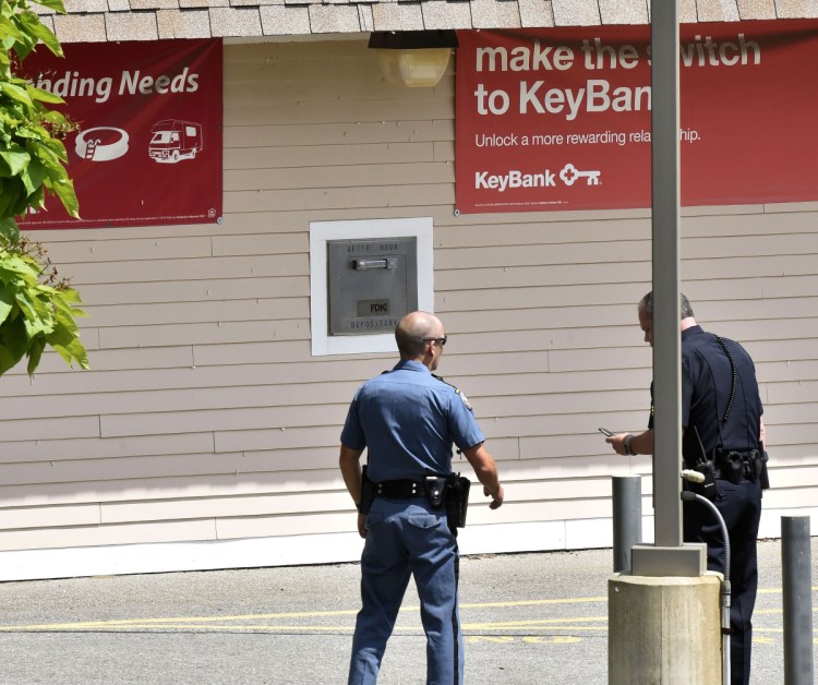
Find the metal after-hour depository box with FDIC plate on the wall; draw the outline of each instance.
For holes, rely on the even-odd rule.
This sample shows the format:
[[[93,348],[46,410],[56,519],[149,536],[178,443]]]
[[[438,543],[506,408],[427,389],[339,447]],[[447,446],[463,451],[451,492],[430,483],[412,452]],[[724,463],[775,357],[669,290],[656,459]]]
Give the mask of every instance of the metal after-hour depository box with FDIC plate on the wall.
[[[393,333],[418,309],[416,238],[327,241],[329,335]]]

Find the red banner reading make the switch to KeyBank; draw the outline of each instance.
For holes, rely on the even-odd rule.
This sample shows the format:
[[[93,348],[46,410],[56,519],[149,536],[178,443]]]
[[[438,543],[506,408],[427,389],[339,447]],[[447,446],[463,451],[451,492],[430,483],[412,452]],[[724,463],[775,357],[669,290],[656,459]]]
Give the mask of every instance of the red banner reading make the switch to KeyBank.
[[[650,27],[458,32],[456,208],[649,207]],[[681,27],[684,205],[818,200],[818,22]]]

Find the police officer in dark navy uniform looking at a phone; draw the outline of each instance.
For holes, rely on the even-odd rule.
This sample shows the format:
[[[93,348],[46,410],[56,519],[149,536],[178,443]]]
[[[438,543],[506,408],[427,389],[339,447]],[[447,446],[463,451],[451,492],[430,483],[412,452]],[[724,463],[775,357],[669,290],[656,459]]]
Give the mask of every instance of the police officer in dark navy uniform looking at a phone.
[[[653,293],[639,302],[639,325],[653,345]],[[731,678],[747,685],[750,672],[753,608],[758,588],[756,540],[761,490],[767,484],[761,399],[746,350],[697,325],[687,298],[682,320],[682,456],[705,483],[687,485],[713,501],[730,536]],[[651,388],[652,395],[652,388]],[[648,430],[621,433],[605,442],[623,455],[653,454],[653,410]],[[724,573],[725,546],[719,521],[699,502],[683,504],[685,542],[707,543],[708,568]]]

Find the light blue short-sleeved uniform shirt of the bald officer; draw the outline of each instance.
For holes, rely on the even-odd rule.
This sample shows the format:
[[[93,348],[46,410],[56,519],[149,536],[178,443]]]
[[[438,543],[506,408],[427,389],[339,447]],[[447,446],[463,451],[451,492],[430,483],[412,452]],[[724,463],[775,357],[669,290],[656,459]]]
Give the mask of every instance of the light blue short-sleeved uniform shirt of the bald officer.
[[[466,398],[419,361],[400,361],[364,383],[352,398],[341,444],[368,449],[370,480],[452,471],[452,446],[485,440]]]

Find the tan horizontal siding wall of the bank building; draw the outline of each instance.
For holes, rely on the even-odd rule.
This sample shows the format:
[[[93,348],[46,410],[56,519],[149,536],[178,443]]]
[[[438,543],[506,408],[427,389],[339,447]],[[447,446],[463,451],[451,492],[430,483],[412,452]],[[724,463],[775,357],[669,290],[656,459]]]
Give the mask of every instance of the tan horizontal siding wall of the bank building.
[[[462,388],[507,503],[470,525],[611,516],[642,479],[597,428],[647,424],[647,209],[454,213],[454,77],[397,88],[364,40],[225,47],[218,225],[44,231],[81,290],[92,371],[48,352],[0,383],[0,550],[353,531],[337,468],[358,385],[390,353],[311,356],[311,221],[425,217],[438,372]],[[687,207],[683,289],[754,356],[774,490],[818,496],[818,203]],[[462,456],[455,469],[471,474]]]

